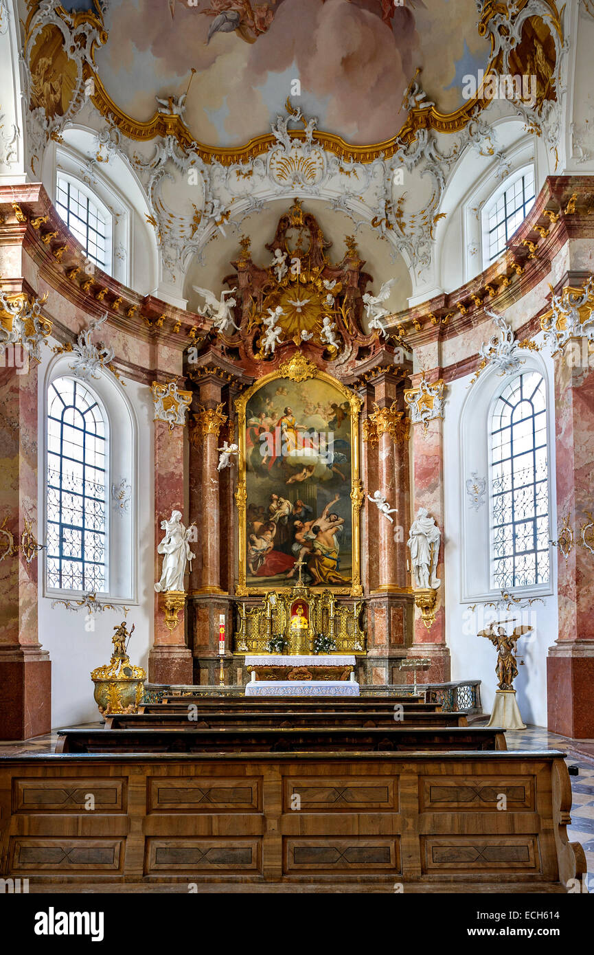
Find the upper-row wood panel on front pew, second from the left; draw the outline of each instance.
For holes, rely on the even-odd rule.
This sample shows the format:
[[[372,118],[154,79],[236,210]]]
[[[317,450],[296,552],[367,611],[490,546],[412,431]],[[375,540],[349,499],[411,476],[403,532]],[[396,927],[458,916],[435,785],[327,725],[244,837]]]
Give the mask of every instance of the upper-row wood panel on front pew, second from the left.
[[[262,812],[261,777],[148,779],[147,813]]]

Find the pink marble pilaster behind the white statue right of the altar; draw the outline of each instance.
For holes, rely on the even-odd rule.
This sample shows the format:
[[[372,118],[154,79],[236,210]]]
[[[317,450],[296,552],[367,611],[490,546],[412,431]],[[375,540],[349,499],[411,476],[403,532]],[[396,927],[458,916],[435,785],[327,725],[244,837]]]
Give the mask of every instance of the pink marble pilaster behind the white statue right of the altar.
[[[412,375],[414,387],[418,387],[420,374]],[[428,372],[427,381],[432,384],[439,379],[439,371]],[[440,580],[435,602],[435,620],[428,628],[423,622],[420,608],[416,608],[414,619],[414,643],[409,650],[410,657],[427,657],[431,667],[417,673],[417,682],[443,683],[450,679],[450,651],[446,646],[445,633],[445,568],[444,555],[444,493],[443,493],[443,418],[435,416],[425,423],[412,425],[413,433],[413,519],[419,507],[426,507],[430,517],[441,531],[441,543],[437,561],[436,575]],[[407,557],[410,552],[407,548]],[[411,584],[414,578],[411,573]]]

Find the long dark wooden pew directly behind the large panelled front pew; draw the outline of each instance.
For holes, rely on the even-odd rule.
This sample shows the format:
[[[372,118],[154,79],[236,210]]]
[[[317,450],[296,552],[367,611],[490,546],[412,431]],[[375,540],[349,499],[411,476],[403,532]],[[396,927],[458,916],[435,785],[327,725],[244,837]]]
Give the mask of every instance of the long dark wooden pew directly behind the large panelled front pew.
[[[504,750],[490,727],[229,727],[183,730],[59,730],[56,753],[331,753]]]

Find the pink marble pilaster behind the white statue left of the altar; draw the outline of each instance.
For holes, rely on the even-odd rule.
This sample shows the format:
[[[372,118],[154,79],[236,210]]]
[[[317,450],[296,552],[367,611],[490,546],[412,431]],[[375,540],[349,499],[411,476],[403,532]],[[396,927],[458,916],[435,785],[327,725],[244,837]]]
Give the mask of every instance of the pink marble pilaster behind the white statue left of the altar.
[[[154,387],[155,392],[155,387]],[[185,393],[182,393],[185,394]],[[159,412],[157,412],[159,414]],[[157,545],[163,538],[161,521],[171,512],[184,513],[183,442],[185,409],[180,406],[178,421],[155,421],[155,580],[161,572],[162,558]],[[184,520],[187,525],[188,520]],[[191,549],[194,546],[190,544]],[[173,629],[165,624],[165,594],[155,594],[155,640],[149,653],[151,683],[190,684],[193,682],[192,652],[185,643],[185,612],[181,608]]]

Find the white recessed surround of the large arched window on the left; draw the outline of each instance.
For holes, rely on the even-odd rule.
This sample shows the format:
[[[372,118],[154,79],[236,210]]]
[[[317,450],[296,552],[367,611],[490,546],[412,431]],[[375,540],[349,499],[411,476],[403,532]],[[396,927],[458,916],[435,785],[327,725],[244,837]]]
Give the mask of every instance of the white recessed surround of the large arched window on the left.
[[[75,378],[69,367],[72,357],[57,355],[48,367],[44,381],[42,422],[39,428],[40,460],[43,461],[43,540],[47,539],[48,515],[48,448],[47,420],[48,395],[56,378]],[[109,372],[104,371],[98,379],[82,380],[81,383],[95,395],[106,422],[108,435],[106,448],[106,589],[97,594],[97,599],[113,604],[138,604],[138,425],[132,405],[121,385]],[[112,495],[112,485],[125,478],[132,488],[128,510],[118,513],[118,505]],[[42,593],[44,597],[71,598],[85,591],[68,590],[48,586],[45,551],[42,551]]]

